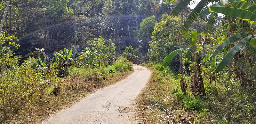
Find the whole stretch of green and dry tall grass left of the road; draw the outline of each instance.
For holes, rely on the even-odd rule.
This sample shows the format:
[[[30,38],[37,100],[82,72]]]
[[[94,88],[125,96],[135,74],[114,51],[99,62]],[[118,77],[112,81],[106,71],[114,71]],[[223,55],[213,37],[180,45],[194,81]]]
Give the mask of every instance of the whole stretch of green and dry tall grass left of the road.
[[[70,67],[65,78],[54,70],[40,73],[29,64],[6,71],[0,78],[0,123],[34,123],[73,98],[108,85],[103,83],[107,77],[131,70],[132,63],[120,57],[110,66]]]

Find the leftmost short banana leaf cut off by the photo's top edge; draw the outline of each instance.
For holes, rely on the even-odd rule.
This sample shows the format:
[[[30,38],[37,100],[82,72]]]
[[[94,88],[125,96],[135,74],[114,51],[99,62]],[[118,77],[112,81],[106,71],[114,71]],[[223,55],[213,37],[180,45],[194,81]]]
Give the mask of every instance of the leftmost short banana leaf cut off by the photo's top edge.
[[[188,4],[190,4],[191,1],[192,0],[180,0],[170,13],[172,17],[178,16],[180,12],[183,11],[188,6]]]

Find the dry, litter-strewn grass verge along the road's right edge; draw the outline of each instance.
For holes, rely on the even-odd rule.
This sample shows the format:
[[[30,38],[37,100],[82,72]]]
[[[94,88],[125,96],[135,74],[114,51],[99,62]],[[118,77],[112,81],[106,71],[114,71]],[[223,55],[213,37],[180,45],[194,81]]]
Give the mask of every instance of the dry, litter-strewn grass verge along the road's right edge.
[[[183,122],[194,117],[195,114],[181,108],[181,102],[172,94],[179,82],[153,67],[149,68],[152,75],[136,100],[138,123],[159,124],[170,123],[171,120]]]

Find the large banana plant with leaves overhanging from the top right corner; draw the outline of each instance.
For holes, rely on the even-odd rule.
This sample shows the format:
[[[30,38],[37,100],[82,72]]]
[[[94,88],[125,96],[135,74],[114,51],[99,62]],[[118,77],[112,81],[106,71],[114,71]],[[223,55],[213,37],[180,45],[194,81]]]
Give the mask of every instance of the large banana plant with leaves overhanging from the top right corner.
[[[170,0],[166,0],[167,2],[170,2]],[[174,0],[172,0],[174,1]],[[171,1],[171,2],[172,2]],[[180,0],[179,3],[175,6],[175,8],[172,10],[171,14],[173,17],[178,16],[181,11],[183,11],[188,4],[190,4],[192,0]],[[206,4],[208,3],[214,3],[211,6],[207,7]],[[207,8],[206,8],[207,7]],[[203,9],[206,8],[206,9]],[[249,23],[251,23],[251,28],[255,28],[256,25],[256,4],[248,2],[248,0],[201,0],[194,10],[190,13],[188,18],[186,19],[183,27],[180,29],[180,33],[186,33],[191,27],[192,23],[196,20],[196,18],[199,16],[205,17],[209,14],[211,14],[208,18],[208,22],[206,25],[205,33],[211,33],[212,27],[214,25],[214,20],[217,18],[217,13],[222,13],[229,17],[234,17],[238,19],[245,20]],[[234,36],[229,37],[226,41],[224,41],[220,47],[216,49],[216,51],[212,55],[212,59],[216,60],[215,56],[222,51],[222,49],[229,45],[233,44],[234,47],[228,52],[227,55],[222,59],[221,62],[217,65],[215,68],[215,71],[221,71],[224,69],[228,63],[232,61],[233,58],[235,58],[235,63],[237,64],[236,67],[239,67],[239,71],[236,71],[236,77],[239,77],[240,82],[243,82],[244,79],[246,79],[246,74],[244,74],[244,65],[242,66],[242,62],[239,61],[239,55],[237,55],[238,52],[241,53],[248,53],[248,51],[255,51],[256,47],[256,36],[254,30],[247,30],[248,32],[238,32]],[[233,32],[231,31],[231,34]],[[251,50],[249,48],[252,48]],[[253,50],[254,49],[254,50]],[[250,55],[250,54],[245,54]],[[238,58],[237,58],[238,57]],[[250,60],[247,60],[246,67],[252,67],[252,72],[256,74],[256,57],[255,52],[253,55],[247,56],[245,58],[249,58]],[[214,61],[212,60],[212,61]],[[254,63],[254,64],[253,64]],[[213,64],[213,63],[212,63]],[[212,65],[211,64],[211,65]],[[238,65],[239,64],[239,65]],[[212,65],[213,66],[213,65]],[[209,68],[208,68],[209,69]],[[243,73],[245,76],[244,78],[241,78],[241,73]],[[243,84],[243,83],[241,83]]]

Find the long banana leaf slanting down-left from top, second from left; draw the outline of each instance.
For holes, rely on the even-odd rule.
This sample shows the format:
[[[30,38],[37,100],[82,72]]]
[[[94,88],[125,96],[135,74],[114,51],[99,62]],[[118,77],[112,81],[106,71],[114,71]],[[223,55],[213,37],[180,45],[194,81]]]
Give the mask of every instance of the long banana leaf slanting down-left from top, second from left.
[[[188,28],[191,27],[193,22],[196,20],[198,14],[201,12],[201,10],[206,6],[207,0],[201,0],[196,7],[193,9],[193,11],[189,14],[187,20],[185,21],[184,25],[180,29],[180,33],[185,33],[188,31]]]

